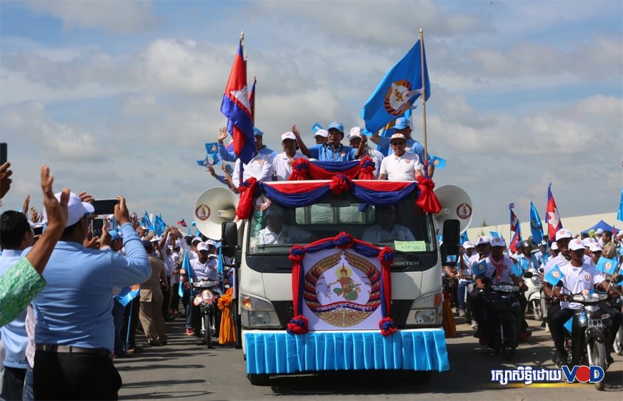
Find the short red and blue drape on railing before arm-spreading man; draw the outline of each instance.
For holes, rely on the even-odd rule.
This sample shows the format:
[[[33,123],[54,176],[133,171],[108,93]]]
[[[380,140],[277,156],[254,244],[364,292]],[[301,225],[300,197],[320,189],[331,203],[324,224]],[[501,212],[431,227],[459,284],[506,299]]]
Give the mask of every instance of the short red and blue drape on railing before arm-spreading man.
[[[357,161],[309,161],[297,158],[292,163],[292,173],[288,181],[330,180],[336,174],[349,179],[374,180],[376,166],[368,156]]]

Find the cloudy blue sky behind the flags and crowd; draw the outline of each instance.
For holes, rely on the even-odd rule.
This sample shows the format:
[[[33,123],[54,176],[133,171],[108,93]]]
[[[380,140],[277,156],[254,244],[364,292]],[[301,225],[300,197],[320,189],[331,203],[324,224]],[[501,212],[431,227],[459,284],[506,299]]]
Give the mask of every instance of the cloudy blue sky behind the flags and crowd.
[[[359,111],[423,27],[437,186],[466,189],[474,224],[514,202],[543,214],[553,183],[564,216],[616,210],[623,187],[620,1],[19,1],[0,4],[0,136],[15,185],[40,203],[57,188],[190,219],[216,185],[194,163],[219,113],[241,30],[265,142],[293,124]],[[419,109],[418,109],[419,110]],[[421,138],[422,117],[414,116]],[[586,189],[592,191],[586,191]],[[473,225],[472,225],[473,226]]]

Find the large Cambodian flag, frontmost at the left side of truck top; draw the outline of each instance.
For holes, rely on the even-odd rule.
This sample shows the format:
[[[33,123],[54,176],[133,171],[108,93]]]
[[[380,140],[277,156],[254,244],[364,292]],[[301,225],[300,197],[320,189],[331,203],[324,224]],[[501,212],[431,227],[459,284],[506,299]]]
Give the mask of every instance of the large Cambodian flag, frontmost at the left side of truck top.
[[[256,150],[249,88],[246,86],[246,63],[242,54],[241,41],[225,86],[221,113],[229,119],[227,125],[231,128],[231,136],[234,137],[234,154],[240,158],[242,163],[249,163],[255,156]]]

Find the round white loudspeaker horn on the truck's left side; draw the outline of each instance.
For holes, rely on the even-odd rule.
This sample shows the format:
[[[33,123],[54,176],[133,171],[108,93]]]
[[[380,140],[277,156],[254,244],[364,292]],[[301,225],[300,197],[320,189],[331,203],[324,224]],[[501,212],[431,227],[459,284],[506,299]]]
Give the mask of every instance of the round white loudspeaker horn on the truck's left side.
[[[208,238],[221,238],[221,223],[234,221],[238,196],[222,187],[214,187],[201,193],[193,210],[196,228]]]

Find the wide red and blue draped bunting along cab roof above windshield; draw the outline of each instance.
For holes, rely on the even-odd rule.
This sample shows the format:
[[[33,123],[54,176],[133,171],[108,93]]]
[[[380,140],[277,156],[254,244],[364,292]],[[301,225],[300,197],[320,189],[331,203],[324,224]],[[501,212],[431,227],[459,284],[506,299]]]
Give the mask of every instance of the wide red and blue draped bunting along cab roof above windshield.
[[[329,191],[342,193],[351,191],[354,196],[369,205],[395,205],[418,191],[416,204],[426,213],[439,213],[441,205],[433,191],[430,178],[419,177],[417,182],[404,181],[351,181],[347,176],[337,174],[331,181],[311,181],[308,183],[261,183],[250,178],[241,184],[240,200],[236,215],[239,219],[249,218],[255,193],[265,193],[266,197],[286,208],[301,208],[317,203]]]

